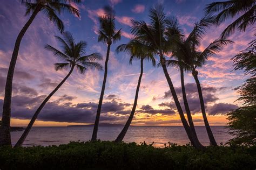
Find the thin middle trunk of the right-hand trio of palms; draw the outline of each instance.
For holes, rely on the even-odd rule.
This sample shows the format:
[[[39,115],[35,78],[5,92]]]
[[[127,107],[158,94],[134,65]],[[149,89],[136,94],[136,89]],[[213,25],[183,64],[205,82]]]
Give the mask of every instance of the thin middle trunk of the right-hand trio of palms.
[[[180,81],[181,81],[181,90],[182,90],[182,96],[183,96],[185,110],[186,110],[186,113],[187,113],[188,123],[190,124],[190,129],[194,133],[194,136],[198,140],[197,132],[194,129],[193,119],[192,119],[190,108],[189,108],[188,102],[187,102],[186,89],[185,89],[185,83],[184,83],[184,71],[183,71],[183,67],[182,66],[180,66]]]

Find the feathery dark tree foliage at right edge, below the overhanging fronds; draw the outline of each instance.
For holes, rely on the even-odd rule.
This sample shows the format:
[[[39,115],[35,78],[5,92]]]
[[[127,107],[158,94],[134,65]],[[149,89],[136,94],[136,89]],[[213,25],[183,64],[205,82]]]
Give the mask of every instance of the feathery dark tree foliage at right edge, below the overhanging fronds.
[[[256,40],[250,46],[235,55],[232,60],[234,69],[243,69],[250,77],[239,87],[239,101],[244,107],[233,110],[227,114],[230,133],[235,137],[228,144],[255,145],[256,144]]]

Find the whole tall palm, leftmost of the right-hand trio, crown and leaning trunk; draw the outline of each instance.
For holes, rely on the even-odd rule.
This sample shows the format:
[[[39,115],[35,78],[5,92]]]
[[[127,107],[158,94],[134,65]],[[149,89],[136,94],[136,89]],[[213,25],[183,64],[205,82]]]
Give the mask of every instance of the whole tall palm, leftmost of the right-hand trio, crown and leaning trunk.
[[[190,126],[186,121],[183,110],[178,100],[178,96],[171,81],[171,77],[166,68],[166,61],[164,55],[169,53],[171,44],[166,39],[167,22],[165,19],[163,6],[157,5],[154,8],[151,8],[149,12],[149,17],[150,24],[147,24],[144,21],[133,20],[133,26],[131,31],[137,40],[147,44],[152,49],[152,53],[159,56],[161,67],[163,68],[164,75],[166,77],[167,83],[169,84],[173,100],[176,104],[181,122],[183,123],[187,136],[194,147],[201,149],[203,148],[203,145],[201,145],[197,138],[194,136]]]

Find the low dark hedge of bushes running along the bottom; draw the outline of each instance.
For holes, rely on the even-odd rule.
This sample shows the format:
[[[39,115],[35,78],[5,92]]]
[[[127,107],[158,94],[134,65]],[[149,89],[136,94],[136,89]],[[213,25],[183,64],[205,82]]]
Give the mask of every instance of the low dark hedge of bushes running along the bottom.
[[[207,146],[204,151],[170,143],[71,142],[59,146],[2,147],[1,169],[255,169],[256,147]]]

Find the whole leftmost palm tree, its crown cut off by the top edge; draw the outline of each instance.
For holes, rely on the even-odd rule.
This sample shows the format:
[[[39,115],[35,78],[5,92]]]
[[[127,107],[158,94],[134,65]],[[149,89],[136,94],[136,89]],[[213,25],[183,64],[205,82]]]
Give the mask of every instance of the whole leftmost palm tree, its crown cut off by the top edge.
[[[11,94],[12,94],[12,80],[14,77],[15,65],[18,57],[19,46],[21,45],[22,38],[28,30],[29,26],[32,24],[33,20],[39,12],[45,13],[49,18],[50,22],[57,25],[60,32],[63,32],[64,25],[62,20],[60,20],[56,14],[68,11],[75,16],[80,16],[79,11],[73,8],[68,2],[79,3],[80,0],[35,0],[35,1],[25,1],[22,3],[26,6],[25,15],[29,15],[32,12],[28,22],[23,26],[21,32],[19,32],[18,37],[15,41],[14,51],[12,52],[11,61],[8,69],[8,74],[6,77],[5,84],[5,94],[3,103],[3,115],[2,115],[2,126],[0,128],[0,146],[11,145],[11,133],[10,133],[10,121],[11,121]]]

